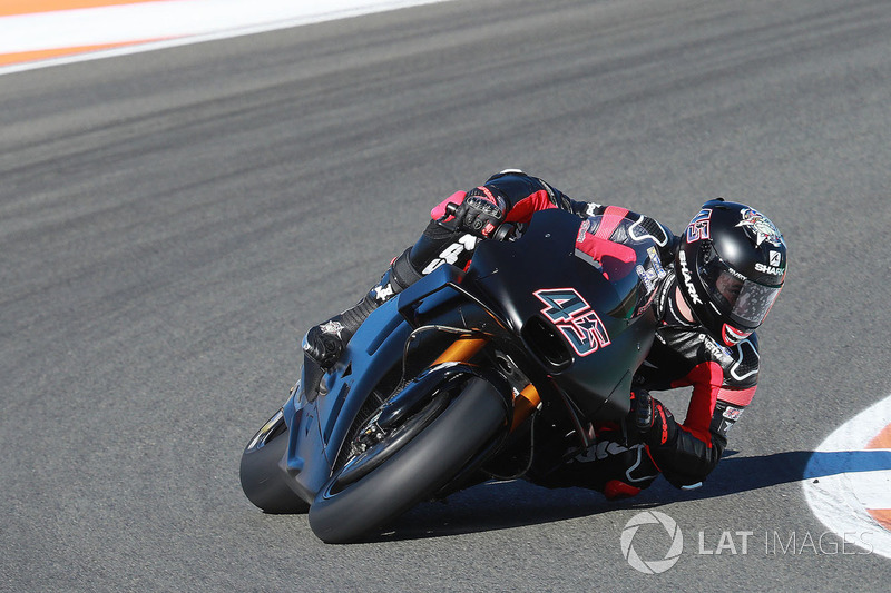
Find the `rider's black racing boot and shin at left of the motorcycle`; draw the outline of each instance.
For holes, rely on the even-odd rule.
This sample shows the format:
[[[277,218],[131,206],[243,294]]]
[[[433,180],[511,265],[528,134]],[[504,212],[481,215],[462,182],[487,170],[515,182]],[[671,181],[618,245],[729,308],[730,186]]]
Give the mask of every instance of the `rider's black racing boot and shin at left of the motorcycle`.
[[[306,332],[303,337],[303,352],[309,359],[323,370],[329,370],[371,312],[421,278],[409,261],[410,253],[411,248],[405,249],[401,256],[393,259],[381,281],[369,290],[362,300]]]

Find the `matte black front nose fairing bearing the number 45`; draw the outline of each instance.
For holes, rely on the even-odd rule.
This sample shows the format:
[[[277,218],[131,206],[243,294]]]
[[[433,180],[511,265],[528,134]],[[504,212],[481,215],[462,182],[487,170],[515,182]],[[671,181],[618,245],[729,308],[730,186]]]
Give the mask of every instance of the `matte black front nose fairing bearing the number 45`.
[[[650,265],[653,244],[637,241],[636,266],[610,280],[577,256],[581,225],[562,210],[537,213],[517,240],[482,241],[463,284],[479,287],[586,416],[618,419],[655,335],[652,289],[640,290],[638,269]]]

